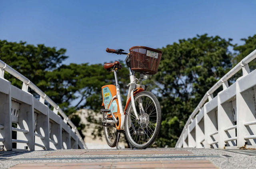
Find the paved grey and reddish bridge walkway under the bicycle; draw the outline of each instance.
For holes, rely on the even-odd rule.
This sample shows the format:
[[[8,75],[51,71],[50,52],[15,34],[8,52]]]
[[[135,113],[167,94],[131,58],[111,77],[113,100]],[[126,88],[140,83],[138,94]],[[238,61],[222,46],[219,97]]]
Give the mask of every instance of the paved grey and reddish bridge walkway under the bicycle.
[[[104,149],[2,151],[0,168],[11,169],[245,169],[256,168],[256,150]]]

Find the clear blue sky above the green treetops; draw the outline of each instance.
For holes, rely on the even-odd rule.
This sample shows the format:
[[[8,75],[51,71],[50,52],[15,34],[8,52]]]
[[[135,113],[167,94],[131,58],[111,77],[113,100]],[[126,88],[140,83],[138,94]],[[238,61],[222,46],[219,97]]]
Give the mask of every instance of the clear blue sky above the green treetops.
[[[106,48],[162,48],[196,34],[256,34],[254,0],[0,0],[0,39],[66,48],[65,64],[125,59]]]

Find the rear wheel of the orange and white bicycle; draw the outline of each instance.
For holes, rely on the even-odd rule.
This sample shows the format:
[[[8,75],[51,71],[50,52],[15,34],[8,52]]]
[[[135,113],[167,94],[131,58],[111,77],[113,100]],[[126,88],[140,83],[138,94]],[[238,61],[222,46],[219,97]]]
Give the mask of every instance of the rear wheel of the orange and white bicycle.
[[[103,118],[106,117],[107,113],[103,113]],[[110,119],[112,120],[112,118]],[[116,141],[117,141],[117,129],[116,125],[110,124],[108,126],[103,126],[105,139],[110,147],[116,147]]]

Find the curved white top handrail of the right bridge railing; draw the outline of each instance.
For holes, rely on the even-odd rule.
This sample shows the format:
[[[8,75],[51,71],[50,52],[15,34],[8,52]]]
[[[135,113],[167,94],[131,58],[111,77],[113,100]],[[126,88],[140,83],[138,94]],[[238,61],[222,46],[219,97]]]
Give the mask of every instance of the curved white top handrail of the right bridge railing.
[[[201,101],[197,105],[196,109],[194,109],[194,111],[189,116],[188,121],[186,122],[184,128],[182,129],[180,136],[184,134],[185,129],[188,127],[192,119],[196,116],[198,111],[203,107],[204,103],[206,103],[206,101],[208,100],[208,95],[211,95],[212,93],[214,93],[214,91],[216,91],[223,83],[227,82],[227,80],[229,80],[232,76],[234,76],[234,74],[236,74],[239,70],[241,70],[243,66],[250,63],[255,58],[256,58],[256,50],[252,51],[244,59],[242,59],[236,66],[234,66],[234,68],[232,68],[227,74],[225,74],[222,78],[220,78],[220,80],[206,92],[204,97],[201,99]],[[180,141],[180,137],[177,143],[179,141]]]

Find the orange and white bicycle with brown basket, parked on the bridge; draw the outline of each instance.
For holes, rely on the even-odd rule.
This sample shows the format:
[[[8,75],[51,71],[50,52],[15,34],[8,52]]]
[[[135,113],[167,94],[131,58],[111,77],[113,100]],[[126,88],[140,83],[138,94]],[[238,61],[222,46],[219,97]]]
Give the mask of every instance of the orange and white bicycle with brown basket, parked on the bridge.
[[[161,109],[156,96],[146,91],[142,80],[156,74],[162,51],[144,46],[134,46],[129,54],[122,49],[106,49],[106,52],[126,55],[130,83],[125,108],[122,107],[117,72],[122,65],[116,61],[104,64],[108,72],[114,72],[116,85],[102,86],[102,125],[106,141],[110,147],[118,149],[120,132],[124,131],[130,145],[136,149],[149,147],[156,139],[161,126]],[[135,77],[140,72],[140,78]]]

